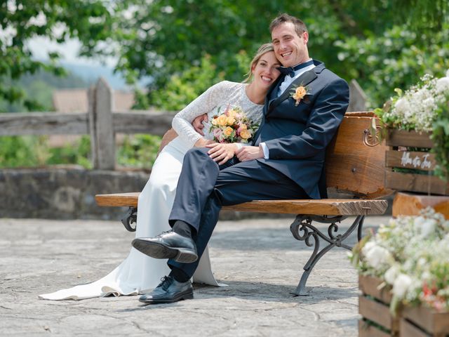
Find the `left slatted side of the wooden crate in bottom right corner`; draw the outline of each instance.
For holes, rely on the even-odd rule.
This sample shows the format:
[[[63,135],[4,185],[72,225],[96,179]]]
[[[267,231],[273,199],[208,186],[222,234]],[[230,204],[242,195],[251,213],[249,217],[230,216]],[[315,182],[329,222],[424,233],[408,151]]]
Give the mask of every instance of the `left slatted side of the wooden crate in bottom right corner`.
[[[391,302],[390,288],[385,286],[377,289],[382,282],[376,277],[359,275],[358,313],[362,318],[358,322],[358,336],[398,336],[400,314],[391,315],[389,303]]]

